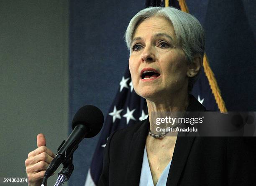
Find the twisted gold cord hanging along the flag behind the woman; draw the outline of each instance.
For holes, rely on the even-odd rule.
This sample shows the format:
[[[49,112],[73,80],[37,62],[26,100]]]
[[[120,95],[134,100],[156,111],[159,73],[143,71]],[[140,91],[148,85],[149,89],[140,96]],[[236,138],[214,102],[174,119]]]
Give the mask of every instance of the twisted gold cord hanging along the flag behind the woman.
[[[185,0],[178,0],[179,1],[179,6],[180,9],[183,12],[189,13],[187,4]],[[169,0],[165,0],[165,7],[169,6]],[[203,59],[203,67],[205,70],[205,75],[209,81],[210,87],[212,89],[212,94],[214,95],[215,101],[218,104],[218,108],[220,109],[220,112],[227,112],[227,109],[225,107],[225,102],[223,101],[221,94],[220,94],[220,89],[218,87],[218,83],[214,77],[214,73],[212,72],[212,69],[209,65],[208,59],[206,54],[204,55]]]

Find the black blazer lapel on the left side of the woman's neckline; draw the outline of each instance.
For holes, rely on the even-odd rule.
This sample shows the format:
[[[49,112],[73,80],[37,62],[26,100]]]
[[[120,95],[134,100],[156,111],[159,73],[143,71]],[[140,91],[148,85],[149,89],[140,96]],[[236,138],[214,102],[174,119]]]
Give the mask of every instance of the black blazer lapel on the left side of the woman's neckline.
[[[146,119],[141,124],[138,131],[133,134],[131,147],[128,156],[128,168],[126,174],[125,185],[139,185],[141,177],[141,166],[143,161],[144,147],[146,136],[148,135],[149,120]]]

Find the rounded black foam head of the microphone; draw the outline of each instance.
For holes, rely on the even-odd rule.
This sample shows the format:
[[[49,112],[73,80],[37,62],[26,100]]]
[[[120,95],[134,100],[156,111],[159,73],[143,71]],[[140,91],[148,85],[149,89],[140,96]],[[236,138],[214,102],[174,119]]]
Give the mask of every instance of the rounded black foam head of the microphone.
[[[85,138],[91,138],[100,132],[103,122],[104,116],[99,108],[93,105],[85,105],[74,115],[72,129],[74,129],[77,124],[84,124],[84,126],[90,128]]]

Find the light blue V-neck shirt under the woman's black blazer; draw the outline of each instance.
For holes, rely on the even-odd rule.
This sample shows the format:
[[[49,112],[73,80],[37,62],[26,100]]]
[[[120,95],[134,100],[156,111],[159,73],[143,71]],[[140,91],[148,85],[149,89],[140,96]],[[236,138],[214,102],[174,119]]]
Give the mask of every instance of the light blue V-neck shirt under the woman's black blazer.
[[[166,185],[169,169],[170,169],[170,166],[171,166],[171,162],[172,162],[172,160],[165,167],[165,169],[162,172],[159,180],[157,181],[156,186]],[[140,186],[154,186],[151,171],[150,171],[150,167],[149,167],[149,163],[148,163],[148,154],[147,154],[146,146],[144,148],[143,162],[142,162],[142,168],[141,168]]]

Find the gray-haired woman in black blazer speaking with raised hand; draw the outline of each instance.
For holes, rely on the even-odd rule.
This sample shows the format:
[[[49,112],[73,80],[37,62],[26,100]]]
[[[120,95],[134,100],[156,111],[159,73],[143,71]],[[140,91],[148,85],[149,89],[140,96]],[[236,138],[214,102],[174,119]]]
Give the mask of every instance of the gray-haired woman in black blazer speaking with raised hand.
[[[109,137],[99,185],[252,185],[250,171],[255,169],[248,169],[251,152],[243,153],[249,149],[243,140],[154,134],[151,112],[205,111],[188,94],[205,50],[198,20],[173,7],[146,8],[129,23],[125,40],[133,87],[146,99],[149,117]],[[39,134],[38,141],[43,146],[25,162],[31,186],[40,186],[54,157],[44,136]],[[238,160],[244,164],[235,164]]]

